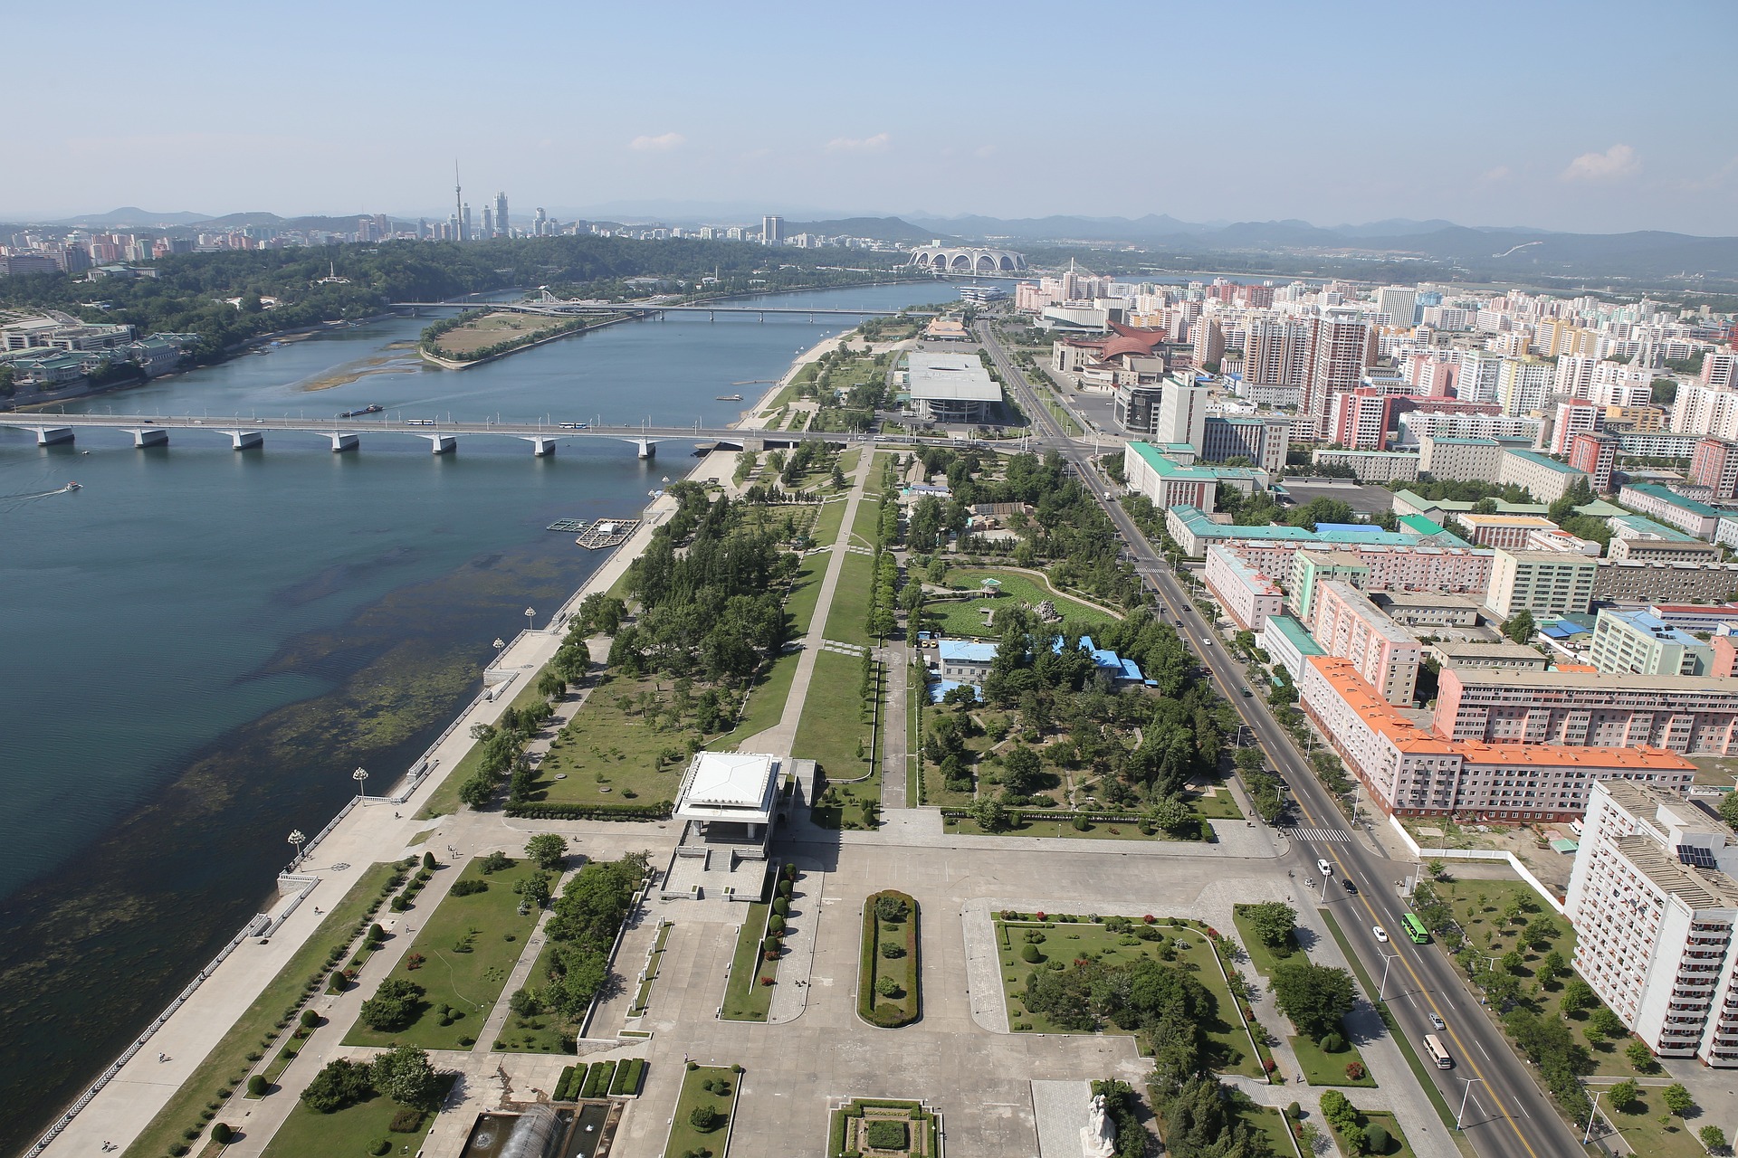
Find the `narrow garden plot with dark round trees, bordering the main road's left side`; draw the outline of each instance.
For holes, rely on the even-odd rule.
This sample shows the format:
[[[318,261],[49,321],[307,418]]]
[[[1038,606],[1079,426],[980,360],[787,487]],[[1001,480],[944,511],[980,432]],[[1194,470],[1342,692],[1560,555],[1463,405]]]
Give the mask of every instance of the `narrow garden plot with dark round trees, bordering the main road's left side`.
[[[1304,1080],[1310,1085],[1376,1085],[1345,1030],[1345,1014],[1354,1000],[1352,976],[1343,969],[1314,965],[1298,948],[1297,910],[1279,901],[1236,905],[1232,920],[1250,964],[1267,977],[1281,1010],[1300,1030],[1286,1040]],[[1310,1031],[1304,1031],[1305,1024]]]

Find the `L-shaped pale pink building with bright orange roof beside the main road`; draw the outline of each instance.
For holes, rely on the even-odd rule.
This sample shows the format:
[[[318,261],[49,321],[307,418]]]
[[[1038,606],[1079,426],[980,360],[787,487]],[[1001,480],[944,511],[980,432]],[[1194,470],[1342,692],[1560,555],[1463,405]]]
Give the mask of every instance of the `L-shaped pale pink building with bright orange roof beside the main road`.
[[[1663,748],[1571,748],[1444,740],[1390,707],[1357,667],[1307,656],[1304,710],[1347,767],[1394,816],[1561,821],[1587,809],[1595,780],[1639,780],[1681,792],[1696,767]]]

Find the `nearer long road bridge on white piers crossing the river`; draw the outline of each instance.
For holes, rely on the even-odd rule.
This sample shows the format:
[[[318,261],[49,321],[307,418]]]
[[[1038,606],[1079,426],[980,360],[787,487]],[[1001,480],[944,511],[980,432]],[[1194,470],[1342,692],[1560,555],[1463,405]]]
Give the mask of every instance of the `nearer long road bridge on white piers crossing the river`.
[[[78,431],[125,431],[132,434],[134,446],[167,446],[170,431],[189,436],[216,434],[226,436],[235,450],[254,450],[264,446],[266,434],[302,434],[330,439],[332,451],[353,451],[362,448],[363,436],[410,436],[428,439],[429,450],[436,455],[448,455],[459,448],[461,438],[511,438],[530,443],[534,455],[553,455],[561,439],[615,439],[631,443],[641,458],[657,455],[657,444],[667,441],[693,441],[713,444],[721,450],[773,450],[794,446],[798,443],[843,443],[862,446],[867,443],[919,444],[925,439],[895,434],[841,434],[831,431],[763,431],[754,427],[706,427],[693,425],[612,425],[600,422],[447,422],[438,418],[396,418],[360,415],[353,418],[259,418],[235,415],[229,418],[210,415],[64,415],[40,411],[0,413],[0,427],[35,431],[36,446],[56,446],[71,443]],[[982,443],[991,450],[1022,450],[1032,444],[1027,441]]]

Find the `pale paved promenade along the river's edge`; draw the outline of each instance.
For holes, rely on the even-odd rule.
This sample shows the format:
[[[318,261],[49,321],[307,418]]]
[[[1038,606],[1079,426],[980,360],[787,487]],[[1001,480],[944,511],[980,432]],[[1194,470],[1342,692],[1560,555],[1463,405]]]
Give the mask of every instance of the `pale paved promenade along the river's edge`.
[[[780,385],[768,392],[775,394],[782,384],[789,382],[803,365],[815,361],[822,352],[839,340],[838,335],[822,339],[806,352],[799,354]],[[751,425],[753,418],[744,417],[735,425]],[[735,467],[737,451],[711,451],[695,462],[687,477],[693,481],[728,483]],[[469,729],[474,724],[492,724],[513,701],[514,694],[535,677],[535,672],[549,661],[563,641],[565,616],[570,615],[586,595],[608,590],[636,559],[652,538],[652,531],[662,524],[676,509],[674,500],[664,497],[653,502],[645,512],[645,523],[634,535],[619,547],[593,575],[561,602],[560,609],[549,616],[547,627],[527,630],[516,635],[502,649],[492,665],[495,675],[511,675],[499,686],[494,698],[478,696],[445,727],[440,738],[412,767],[433,769],[408,792],[395,788],[400,799],[370,797],[365,804],[348,807],[330,826],[330,832],[316,845],[309,845],[301,861],[302,872],[316,878],[311,892],[290,896],[271,906],[268,918],[278,927],[269,939],[242,939],[233,953],[209,970],[203,984],[195,988],[179,1007],[172,1009],[162,1024],[148,1035],[148,1045],[137,1054],[104,1069],[108,1080],[103,1089],[89,1097],[89,1102],[71,1116],[63,1120],[63,1130],[47,1149],[35,1153],[47,1155],[83,1155],[94,1153],[106,1141],[136,1139],[148,1123],[170,1102],[174,1094],[189,1080],[214,1082],[221,1085],[229,1075],[205,1075],[200,1071],[202,1061],[212,1052],[222,1035],[249,1009],[255,997],[276,977],[278,970],[301,950],[320,924],[313,911],[316,906],[330,906],[344,896],[349,887],[367,872],[367,866],[379,859],[391,859],[401,851],[422,847],[424,839],[433,842],[431,821],[417,819],[421,811],[440,783],[452,774],[459,760],[471,748]],[[400,781],[405,786],[405,781]],[[440,821],[434,821],[438,825]],[[615,837],[622,826],[610,828]],[[516,837],[511,832],[501,833],[509,842]],[[641,837],[643,839],[643,837]],[[440,845],[434,845],[440,847]],[[445,852],[441,854],[445,858]],[[320,865],[322,868],[308,868]],[[156,1056],[169,1061],[156,1061]],[[146,1155],[144,1158],[158,1158]]]

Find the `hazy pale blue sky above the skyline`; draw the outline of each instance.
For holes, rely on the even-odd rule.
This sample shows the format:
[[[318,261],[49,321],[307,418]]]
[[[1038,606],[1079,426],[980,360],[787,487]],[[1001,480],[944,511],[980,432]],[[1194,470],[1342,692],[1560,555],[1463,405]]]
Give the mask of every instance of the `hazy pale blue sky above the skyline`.
[[[1446,217],[1738,233],[1731,3],[78,3],[0,19],[0,219]]]

